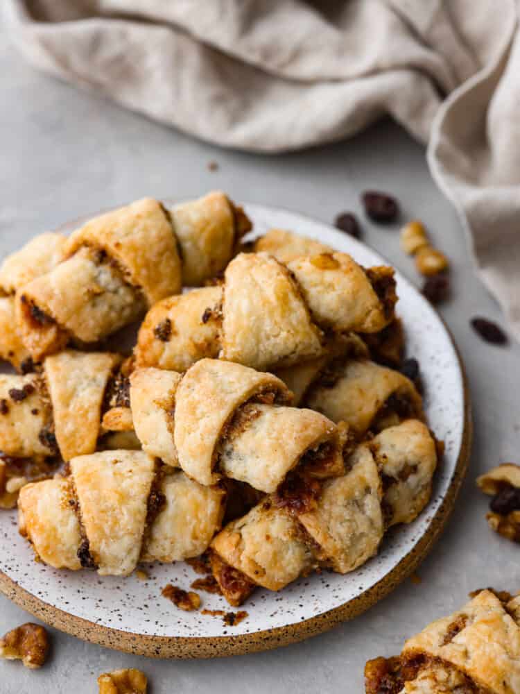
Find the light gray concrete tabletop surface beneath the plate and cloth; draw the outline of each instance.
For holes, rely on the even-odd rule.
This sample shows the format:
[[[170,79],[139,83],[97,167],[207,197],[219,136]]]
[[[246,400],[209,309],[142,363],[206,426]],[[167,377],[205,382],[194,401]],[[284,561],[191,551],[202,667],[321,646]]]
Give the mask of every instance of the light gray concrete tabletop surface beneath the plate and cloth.
[[[423,219],[451,258],[454,297],[442,315],[465,360],[475,421],[469,475],[447,530],[419,570],[420,584],[406,581],[363,616],[306,643],[233,660],[153,661],[52,630],[49,664],[33,672],[1,662],[0,693],[92,693],[100,672],[121,667],[144,670],[153,694],[358,693],[367,658],[399,652],[406,636],[455,609],[472,589],[520,589],[520,550],[489,532],[487,502],[474,485],[489,466],[520,462],[520,346],[489,346],[471,332],[471,316],[501,316],[474,275],[456,214],[435,188],[422,147],[385,123],[303,153],[221,151],[37,74],[5,31],[0,38],[1,254],[67,219],[146,194],[189,198],[218,187],[239,200],[331,221],[343,209],[360,211],[359,192],[380,187],[399,197],[406,216]],[[210,160],[218,171],[208,171]],[[417,281],[396,230],[364,229],[368,244]],[[0,632],[27,618],[0,596]]]

